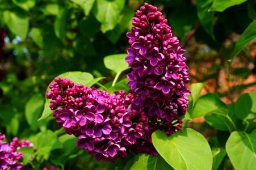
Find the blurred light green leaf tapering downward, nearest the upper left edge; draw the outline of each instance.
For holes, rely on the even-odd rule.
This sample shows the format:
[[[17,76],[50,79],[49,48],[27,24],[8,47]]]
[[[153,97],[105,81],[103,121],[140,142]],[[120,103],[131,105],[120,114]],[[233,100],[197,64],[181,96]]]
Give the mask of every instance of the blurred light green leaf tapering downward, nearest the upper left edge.
[[[3,20],[12,33],[22,38],[23,41],[26,40],[30,24],[26,12],[18,9],[5,11],[3,12]]]

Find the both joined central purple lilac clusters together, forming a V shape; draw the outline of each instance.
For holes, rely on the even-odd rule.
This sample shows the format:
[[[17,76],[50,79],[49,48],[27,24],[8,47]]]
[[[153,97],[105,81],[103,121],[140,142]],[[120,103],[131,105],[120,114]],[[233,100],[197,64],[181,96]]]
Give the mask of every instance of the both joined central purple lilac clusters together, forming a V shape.
[[[136,11],[131,48],[125,60],[132,68],[127,75],[132,94],[110,94],[66,78],[55,78],[46,97],[58,126],[78,138],[95,160],[113,162],[136,154],[157,155],[151,135],[156,130],[167,135],[182,128],[179,115],[188,108],[188,67],[184,50],[172,37],[167,20],[156,7],[145,3]]]

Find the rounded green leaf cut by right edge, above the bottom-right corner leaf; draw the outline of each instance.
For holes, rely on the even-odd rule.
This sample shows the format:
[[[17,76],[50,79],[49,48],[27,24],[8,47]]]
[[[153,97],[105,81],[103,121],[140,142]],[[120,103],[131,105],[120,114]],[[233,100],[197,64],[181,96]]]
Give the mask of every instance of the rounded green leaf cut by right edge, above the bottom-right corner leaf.
[[[236,116],[241,120],[256,118],[256,92],[241,95],[236,103]]]

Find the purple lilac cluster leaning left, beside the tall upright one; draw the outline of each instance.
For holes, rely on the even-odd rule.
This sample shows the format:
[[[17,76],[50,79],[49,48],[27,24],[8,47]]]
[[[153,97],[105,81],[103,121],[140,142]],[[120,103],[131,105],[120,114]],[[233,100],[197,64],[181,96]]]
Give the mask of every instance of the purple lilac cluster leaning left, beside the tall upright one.
[[[127,111],[132,94],[110,94],[58,77],[49,88],[46,97],[52,99],[51,109],[57,109],[53,116],[58,126],[75,135],[77,146],[93,154],[95,160],[125,158],[141,137],[141,125],[132,122]]]

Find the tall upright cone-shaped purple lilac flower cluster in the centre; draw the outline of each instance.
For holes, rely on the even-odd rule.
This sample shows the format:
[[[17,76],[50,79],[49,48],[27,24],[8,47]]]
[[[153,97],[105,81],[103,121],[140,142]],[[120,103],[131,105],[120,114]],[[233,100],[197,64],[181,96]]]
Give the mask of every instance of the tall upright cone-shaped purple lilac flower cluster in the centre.
[[[127,33],[131,48],[125,61],[132,68],[128,86],[136,97],[129,112],[146,117],[143,124],[148,125],[133,151],[156,155],[153,131],[160,129],[171,135],[181,130],[182,120],[177,116],[188,108],[188,67],[179,40],[172,37],[171,27],[157,7],[144,3],[132,24],[132,32]]]

